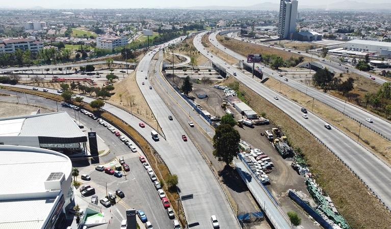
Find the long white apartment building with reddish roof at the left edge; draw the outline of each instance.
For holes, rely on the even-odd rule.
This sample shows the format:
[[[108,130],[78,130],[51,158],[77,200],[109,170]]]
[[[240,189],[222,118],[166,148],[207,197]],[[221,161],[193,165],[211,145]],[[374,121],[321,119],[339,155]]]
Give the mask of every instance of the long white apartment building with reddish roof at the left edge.
[[[38,52],[43,48],[43,43],[37,41],[35,37],[30,38],[8,38],[0,41],[0,53],[13,53],[16,49],[27,50],[31,52]]]

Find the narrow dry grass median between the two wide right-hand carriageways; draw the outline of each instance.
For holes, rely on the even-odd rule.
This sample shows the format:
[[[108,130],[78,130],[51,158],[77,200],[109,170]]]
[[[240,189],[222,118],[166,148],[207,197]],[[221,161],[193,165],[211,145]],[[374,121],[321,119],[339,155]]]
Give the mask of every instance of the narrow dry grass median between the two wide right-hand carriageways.
[[[265,85],[277,92],[280,91],[279,81],[273,78],[269,78],[265,82]],[[288,87],[285,84],[281,84],[281,94],[301,104],[308,110],[312,110],[312,98],[305,95],[304,93],[294,90],[293,88]],[[351,138],[357,139],[359,124],[356,121],[345,116],[340,111],[337,111],[322,102],[314,100],[313,112],[321,118],[327,120],[327,122],[331,123],[332,125],[335,125],[339,129],[344,131]],[[388,163],[391,163],[391,151],[389,149],[389,147],[391,147],[390,141],[381,137],[379,134],[373,132],[369,128],[361,126],[360,142],[369,149],[372,149],[372,151],[376,155],[378,155]]]

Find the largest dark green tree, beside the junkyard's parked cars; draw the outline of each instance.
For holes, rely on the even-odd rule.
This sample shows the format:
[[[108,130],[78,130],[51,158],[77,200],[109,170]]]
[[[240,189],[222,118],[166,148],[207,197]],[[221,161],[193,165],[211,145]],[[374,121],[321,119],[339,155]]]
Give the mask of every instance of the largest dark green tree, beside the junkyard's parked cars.
[[[228,124],[221,124],[216,128],[213,136],[213,148],[215,148],[213,155],[228,165],[239,152],[239,141],[240,134],[237,130]]]

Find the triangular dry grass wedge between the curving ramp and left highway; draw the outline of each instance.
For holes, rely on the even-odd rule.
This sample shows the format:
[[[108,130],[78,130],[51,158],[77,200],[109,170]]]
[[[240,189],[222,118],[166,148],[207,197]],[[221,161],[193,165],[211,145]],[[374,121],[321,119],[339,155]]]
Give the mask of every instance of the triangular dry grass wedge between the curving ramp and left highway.
[[[126,78],[114,83],[115,93],[109,101],[126,110],[132,111],[134,115],[141,118],[151,126],[156,126],[156,120],[147,101],[142,95],[136,82],[136,72],[132,72]],[[131,101],[133,101],[131,106]]]

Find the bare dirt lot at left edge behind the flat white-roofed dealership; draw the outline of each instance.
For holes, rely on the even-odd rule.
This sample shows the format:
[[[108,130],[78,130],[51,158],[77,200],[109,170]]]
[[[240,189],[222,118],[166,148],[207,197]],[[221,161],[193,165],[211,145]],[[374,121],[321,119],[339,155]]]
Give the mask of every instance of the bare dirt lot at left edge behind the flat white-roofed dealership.
[[[41,110],[41,113],[49,113],[55,111],[31,105],[8,102],[0,102],[0,107],[7,107],[7,109],[0,109],[0,118],[31,115],[32,112],[37,111],[38,109]]]

